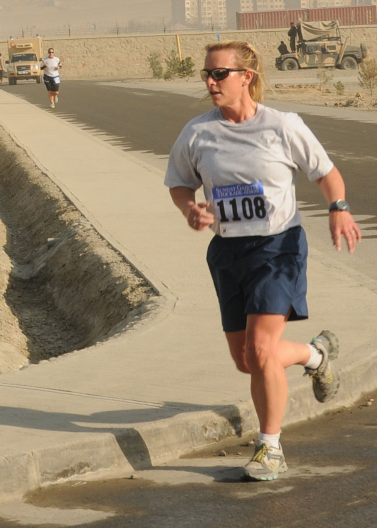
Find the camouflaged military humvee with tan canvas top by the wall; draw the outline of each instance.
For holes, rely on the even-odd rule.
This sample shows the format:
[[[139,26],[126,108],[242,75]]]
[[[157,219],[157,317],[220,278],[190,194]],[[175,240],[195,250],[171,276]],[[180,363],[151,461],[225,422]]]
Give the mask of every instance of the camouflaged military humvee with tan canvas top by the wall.
[[[342,43],[336,20],[327,22],[299,22],[297,24],[298,44],[296,52],[277,57],[278,70],[299,68],[340,68],[355,70],[366,57],[366,44],[359,46]]]

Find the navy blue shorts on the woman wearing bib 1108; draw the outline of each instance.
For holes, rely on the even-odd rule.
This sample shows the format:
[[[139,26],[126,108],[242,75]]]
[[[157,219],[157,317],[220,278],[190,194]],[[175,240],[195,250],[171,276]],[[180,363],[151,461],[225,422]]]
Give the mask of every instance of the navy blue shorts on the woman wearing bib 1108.
[[[224,332],[246,328],[248,314],[308,318],[307,242],[301,226],[270,237],[215,235],[207,262],[219,298]]]

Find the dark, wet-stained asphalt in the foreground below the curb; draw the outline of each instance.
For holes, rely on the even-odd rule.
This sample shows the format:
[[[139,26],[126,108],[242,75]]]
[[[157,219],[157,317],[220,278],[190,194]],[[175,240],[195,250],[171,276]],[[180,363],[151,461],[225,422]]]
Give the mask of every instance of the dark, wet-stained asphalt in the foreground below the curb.
[[[376,430],[377,392],[285,428],[289,470],[274,482],[240,482],[253,451],[243,439],[134,479],[30,494],[25,503],[0,505],[0,528],[375,528]]]

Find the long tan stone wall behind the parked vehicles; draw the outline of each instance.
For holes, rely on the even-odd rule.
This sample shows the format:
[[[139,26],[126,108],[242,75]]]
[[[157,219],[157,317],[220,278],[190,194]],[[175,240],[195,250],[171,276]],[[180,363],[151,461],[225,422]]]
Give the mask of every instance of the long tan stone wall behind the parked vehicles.
[[[279,54],[278,44],[281,40],[289,44],[287,31],[224,31],[220,38],[252,42],[261,53],[266,70],[274,70],[275,57]],[[369,56],[377,58],[377,26],[342,27],[341,34],[343,40],[348,37],[348,44],[360,45],[365,42]],[[182,56],[191,56],[195,69],[199,71],[203,67],[205,44],[215,41],[215,32],[182,33]],[[144,79],[152,77],[148,55],[157,52],[164,59],[172,49],[177,50],[177,40],[172,34],[46,39],[43,42],[44,53],[51,46],[64,64],[62,80]],[[0,52],[7,59],[6,42],[0,42]],[[164,64],[164,60],[162,62]]]

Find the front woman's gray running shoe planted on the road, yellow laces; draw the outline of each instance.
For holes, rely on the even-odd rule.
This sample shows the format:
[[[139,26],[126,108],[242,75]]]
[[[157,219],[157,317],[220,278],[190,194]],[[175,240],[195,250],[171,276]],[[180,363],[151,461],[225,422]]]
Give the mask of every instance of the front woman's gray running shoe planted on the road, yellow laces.
[[[270,442],[258,440],[255,453],[244,468],[244,478],[247,480],[275,480],[279,473],[287,471],[288,466],[279,444],[279,449]]]

